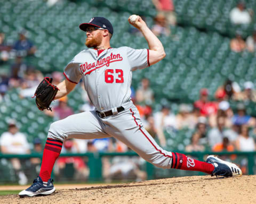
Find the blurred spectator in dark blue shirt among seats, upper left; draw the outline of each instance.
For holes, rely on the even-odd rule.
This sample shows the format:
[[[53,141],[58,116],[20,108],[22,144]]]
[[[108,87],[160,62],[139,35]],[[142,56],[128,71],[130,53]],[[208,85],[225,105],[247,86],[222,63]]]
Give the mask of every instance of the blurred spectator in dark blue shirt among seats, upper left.
[[[34,44],[27,39],[27,31],[22,30],[19,32],[19,40],[13,45],[13,49],[21,56],[25,57],[28,55],[34,55],[36,52],[36,47]]]

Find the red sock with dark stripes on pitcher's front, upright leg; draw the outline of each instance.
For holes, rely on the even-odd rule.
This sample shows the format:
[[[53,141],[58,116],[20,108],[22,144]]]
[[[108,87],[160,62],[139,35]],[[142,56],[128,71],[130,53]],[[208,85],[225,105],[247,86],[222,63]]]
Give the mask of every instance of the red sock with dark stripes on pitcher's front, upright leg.
[[[55,160],[59,157],[62,148],[62,141],[47,138],[44,147],[43,161],[39,176],[43,182],[51,178],[52,168]]]

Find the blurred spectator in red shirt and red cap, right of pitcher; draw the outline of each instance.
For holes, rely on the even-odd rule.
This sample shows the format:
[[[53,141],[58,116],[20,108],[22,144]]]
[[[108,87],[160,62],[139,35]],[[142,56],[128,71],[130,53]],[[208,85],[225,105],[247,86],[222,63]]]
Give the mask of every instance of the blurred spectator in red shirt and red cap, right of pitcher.
[[[218,105],[213,101],[209,101],[208,95],[209,93],[207,89],[201,89],[200,98],[194,103],[194,106],[200,109],[202,116],[209,116],[217,113]]]

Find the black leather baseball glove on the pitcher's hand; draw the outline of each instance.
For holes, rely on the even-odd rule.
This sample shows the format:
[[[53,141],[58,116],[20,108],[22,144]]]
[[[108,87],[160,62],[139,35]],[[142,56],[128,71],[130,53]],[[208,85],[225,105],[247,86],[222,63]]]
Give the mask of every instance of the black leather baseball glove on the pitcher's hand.
[[[51,83],[52,78],[45,77],[36,88],[34,97],[36,97],[36,105],[40,111],[44,109],[52,111],[50,105],[59,89]]]

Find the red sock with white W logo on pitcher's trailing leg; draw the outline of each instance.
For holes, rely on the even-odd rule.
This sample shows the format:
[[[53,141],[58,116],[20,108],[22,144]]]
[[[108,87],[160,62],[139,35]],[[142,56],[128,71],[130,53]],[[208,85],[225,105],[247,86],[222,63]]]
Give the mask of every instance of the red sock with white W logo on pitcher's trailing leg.
[[[212,174],[214,166],[206,162],[200,162],[196,159],[187,157],[180,153],[172,152],[172,165],[171,168],[178,168],[182,170],[198,171],[207,174]]]

